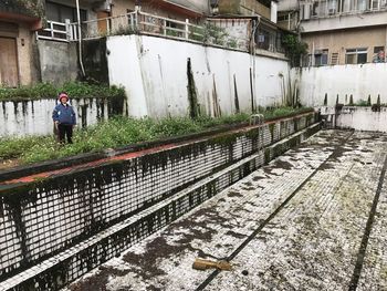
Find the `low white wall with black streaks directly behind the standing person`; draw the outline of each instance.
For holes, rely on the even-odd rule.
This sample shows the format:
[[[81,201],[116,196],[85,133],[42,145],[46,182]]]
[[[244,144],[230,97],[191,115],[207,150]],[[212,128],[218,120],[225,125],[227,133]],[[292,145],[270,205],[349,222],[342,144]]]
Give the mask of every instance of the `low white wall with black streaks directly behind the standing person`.
[[[0,102],[0,137],[48,135],[53,133],[52,111],[55,100],[39,100],[23,102]],[[97,107],[96,98],[72,100],[72,105],[77,114],[77,124],[82,125],[81,106],[88,104],[86,108],[87,125],[95,124],[97,116],[102,115],[102,108]],[[107,104],[104,104],[104,118],[107,118]]]

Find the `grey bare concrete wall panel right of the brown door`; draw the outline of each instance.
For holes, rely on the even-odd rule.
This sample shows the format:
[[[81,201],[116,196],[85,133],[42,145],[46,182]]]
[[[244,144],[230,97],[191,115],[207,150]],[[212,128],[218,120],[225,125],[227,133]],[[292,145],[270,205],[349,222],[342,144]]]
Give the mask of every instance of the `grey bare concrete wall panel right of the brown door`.
[[[64,83],[79,75],[76,43],[38,41],[42,82]]]

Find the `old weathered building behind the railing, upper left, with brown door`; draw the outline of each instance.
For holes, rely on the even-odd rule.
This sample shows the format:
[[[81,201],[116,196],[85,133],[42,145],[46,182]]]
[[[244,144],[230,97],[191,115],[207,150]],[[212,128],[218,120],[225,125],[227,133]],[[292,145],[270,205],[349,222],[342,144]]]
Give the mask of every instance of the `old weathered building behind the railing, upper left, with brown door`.
[[[34,82],[64,82],[80,75],[77,43],[130,25],[128,13],[195,23],[210,13],[207,0],[1,0],[0,86],[15,87]],[[79,17],[81,33],[79,33]],[[144,17],[144,15],[143,15]],[[145,18],[145,17],[144,17]],[[138,19],[149,27],[155,18]],[[165,25],[172,22],[166,20]]]

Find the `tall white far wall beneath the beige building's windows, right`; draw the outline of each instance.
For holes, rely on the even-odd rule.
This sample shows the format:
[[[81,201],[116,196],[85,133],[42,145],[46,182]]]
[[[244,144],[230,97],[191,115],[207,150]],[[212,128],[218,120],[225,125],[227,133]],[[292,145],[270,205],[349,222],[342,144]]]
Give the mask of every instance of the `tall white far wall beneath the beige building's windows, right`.
[[[378,94],[381,103],[387,103],[387,63],[347,64],[292,69],[292,86],[299,87],[301,103],[306,106],[322,106],[325,93],[327,105],[348,104],[372,97],[376,103]],[[345,97],[347,95],[347,97]]]

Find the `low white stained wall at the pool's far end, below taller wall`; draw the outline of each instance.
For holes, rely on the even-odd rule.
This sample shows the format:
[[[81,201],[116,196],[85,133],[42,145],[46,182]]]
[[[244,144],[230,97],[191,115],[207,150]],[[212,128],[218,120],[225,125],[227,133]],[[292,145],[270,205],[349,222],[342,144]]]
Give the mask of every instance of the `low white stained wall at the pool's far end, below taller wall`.
[[[321,113],[332,121],[333,127],[387,133],[387,107],[322,107]]]

